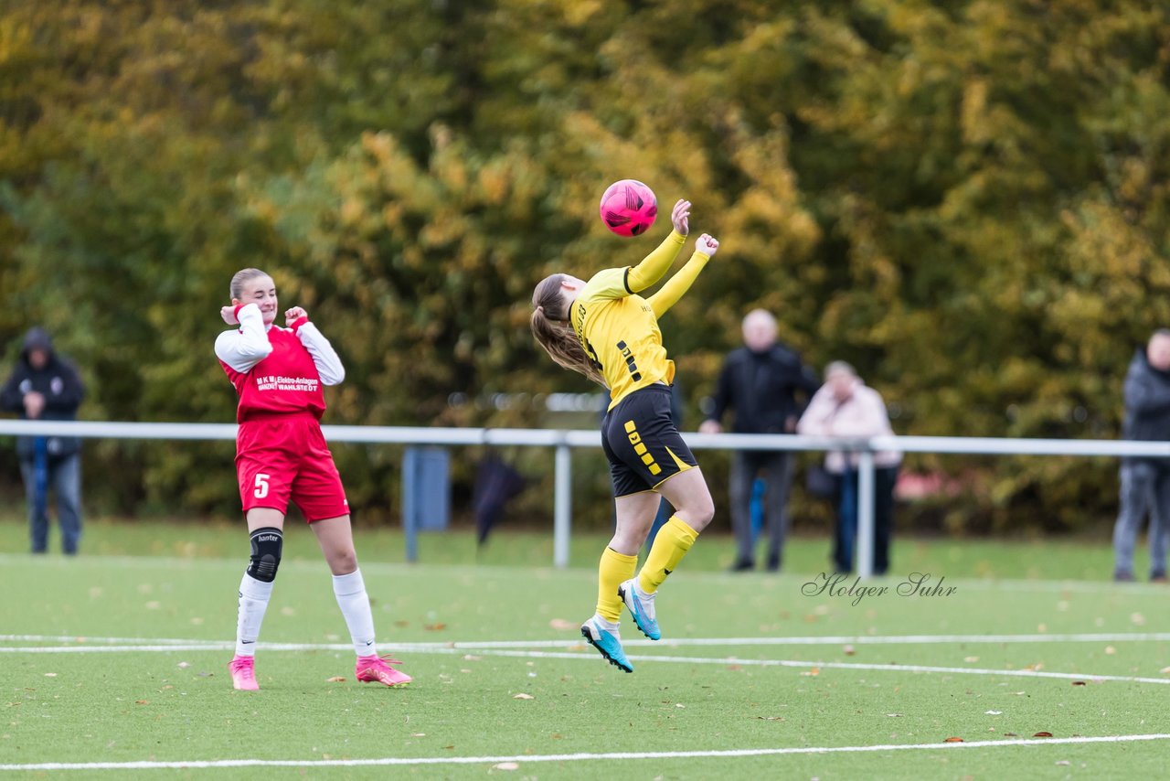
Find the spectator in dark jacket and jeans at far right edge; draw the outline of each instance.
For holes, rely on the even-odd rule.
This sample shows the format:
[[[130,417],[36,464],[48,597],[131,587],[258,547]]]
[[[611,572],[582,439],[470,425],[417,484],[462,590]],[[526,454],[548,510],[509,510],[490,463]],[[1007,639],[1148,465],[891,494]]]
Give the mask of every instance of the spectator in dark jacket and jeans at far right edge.
[[[1170,329],[1159,329],[1129,362],[1124,385],[1122,437],[1137,441],[1170,440]],[[1142,521],[1150,516],[1150,580],[1166,580],[1170,539],[1170,463],[1157,458],[1121,461],[1121,508],[1113,527],[1115,581],[1134,580],[1134,548]]]

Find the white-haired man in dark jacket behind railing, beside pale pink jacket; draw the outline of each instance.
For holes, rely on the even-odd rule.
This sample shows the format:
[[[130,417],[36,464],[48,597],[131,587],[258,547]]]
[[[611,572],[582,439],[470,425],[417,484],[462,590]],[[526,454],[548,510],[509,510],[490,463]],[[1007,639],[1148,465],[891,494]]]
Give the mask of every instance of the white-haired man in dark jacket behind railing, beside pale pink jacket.
[[[776,338],[776,318],[753,309],[743,318],[744,347],[734,350],[723,363],[715,389],[710,417],[698,427],[718,433],[728,410],[735,411],[736,433],[792,433],[807,399],[820,388],[817,374],[800,362],[800,356]],[[803,402],[797,400],[797,395]],[[736,536],[736,559],[731,569],[756,566],[751,535],[751,493],[756,475],[765,478],[764,523],[769,532],[768,569],[778,571],[787,532],[789,487],[792,482],[792,454],[787,451],[737,451],[731,461],[731,528]]]

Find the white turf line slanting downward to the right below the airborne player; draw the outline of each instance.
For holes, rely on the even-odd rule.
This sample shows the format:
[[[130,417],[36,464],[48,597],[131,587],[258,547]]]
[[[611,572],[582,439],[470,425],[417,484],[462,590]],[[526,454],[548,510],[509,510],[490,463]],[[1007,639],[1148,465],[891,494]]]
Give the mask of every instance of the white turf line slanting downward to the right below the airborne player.
[[[235,643],[218,642],[193,645],[95,645],[95,646],[25,646],[25,648],[0,648],[0,652],[7,653],[122,653],[122,652],[154,652],[176,653],[179,651],[228,651],[235,648]],[[297,643],[274,643],[262,646],[264,651],[349,651],[347,644],[297,644]],[[567,648],[581,648],[574,644]],[[399,649],[400,650],[400,649]],[[592,653],[574,651],[521,651],[508,649],[486,649],[464,645],[452,648],[449,645],[427,646],[412,649],[414,653],[439,653],[457,655],[474,651],[479,656],[500,656],[519,659],[576,659],[596,660]],[[642,656],[631,655],[631,662],[662,662],[668,664],[714,664],[714,665],[739,665],[757,667],[801,667],[801,669],[825,669],[825,670],[870,670],[876,672],[938,672],[966,676],[1016,676],[1021,678],[1060,678],[1062,680],[1120,680],[1127,683],[1143,684],[1170,684],[1170,678],[1142,678],[1137,676],[1102,676],[1079,672],[1045,672],[1041,670],[989,670],[982,667],[936,667],[929,665],[910,664],[867,664],[861,662],[805,662],[799,659],[741,659],[737,657],[687,657],[687,656]]]

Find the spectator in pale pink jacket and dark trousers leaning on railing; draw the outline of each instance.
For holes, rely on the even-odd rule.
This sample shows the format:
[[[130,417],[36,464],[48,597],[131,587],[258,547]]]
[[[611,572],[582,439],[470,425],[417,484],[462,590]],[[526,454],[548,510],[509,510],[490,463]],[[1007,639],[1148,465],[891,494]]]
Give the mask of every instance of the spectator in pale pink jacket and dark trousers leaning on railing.
[[[858,377],[853,366],[834,361],[825,368],[825,384],[808,402],[797,432],[819,437],[865,438],[893,436],[881,395]],[[893,527],[894,482],[902,454],[874,453],[874,575],[889,569],[889,537]],[[853,570],[858,534],[858,454],[832,451],[825,468],[840,475],[833,563],[838,573]]]

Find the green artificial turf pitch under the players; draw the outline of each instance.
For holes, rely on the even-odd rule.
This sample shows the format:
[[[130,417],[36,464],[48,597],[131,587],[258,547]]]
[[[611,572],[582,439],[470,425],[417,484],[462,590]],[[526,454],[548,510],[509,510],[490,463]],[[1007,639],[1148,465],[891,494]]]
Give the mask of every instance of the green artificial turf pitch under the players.
[[[243,568],[239,529],[91,523],[77,559],[16,553],[22,534],[18,523],[0,525],[9,552],[0,554],[9,595],[0,622],[0,776],[1057,779],[1152,777],[1164,767],[1165,740],[945,742],[1170,733],[1170,685],[1152,683],[1170,684],[1170,643],[1141,638],[1166,630],[1166,588],[1104,582],[1097,569],[1108,566],[1107,548],[903,541],[899,574],[863,584],[888,590],[858,600],[856,590],[820,590],[812,570],[825,541],[793,546],[790,561],[807,573],[732,575],[716,571],[729,540],[711,535],[662,590],[666,638],[633,643],[636,631],[622,624],[636,667],[624,674],[577,633],[592,612],[592,560],[604,539],[576,540],[581,566],[555,570],[532,566],[551,557],[537,534],[501,535],[491,566],[475,566],[459,563],[474,561],[467,534],[433,537],[425,563],[404,564],[393,563],[395,535],[359,532],[381,651],[415,678],[385,690],[353,680],[329,573],[311,535],[292,529],[253,693],[232,691],[226,670]],[[955,590],[899,595],[920,564],[928,585],[945,578]],[[972,577],[984,571],[1009,580]],[[1064,633],[1074,637],[1040,642]],[[978,640],[991,635],[1023,637]],[[688,644],[697,639],[704,643]],[[166,648],[184,640],[194,645]],[[110,650],[77,651],[95,648]],[[932,748],[855,751],[918,745]],[[750,753],[807,747],[851,751]],[[746,753],[538,761],[737,751]],[[314,765],[412,758],[438,763]],[[522,758],[516,769],[498,767],[508,758]],[[190,765],[245,759],[302,765]],[[138,761],[188,765],[21,769]]]

